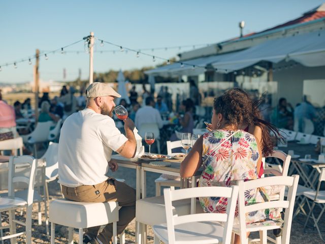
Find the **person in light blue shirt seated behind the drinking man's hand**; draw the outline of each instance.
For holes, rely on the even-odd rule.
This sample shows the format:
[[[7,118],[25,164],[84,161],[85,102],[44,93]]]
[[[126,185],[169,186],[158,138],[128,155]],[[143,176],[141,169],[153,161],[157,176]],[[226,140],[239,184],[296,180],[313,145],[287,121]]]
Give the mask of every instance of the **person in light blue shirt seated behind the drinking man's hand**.
[[[146,98],[146,106],[140,108],[136,113],[135,124],[138,130],[141,129],[142,124],[155,123],[158,128],[163,128],[163,120],[160,113],[154,108],[155,102],[152,97]]]

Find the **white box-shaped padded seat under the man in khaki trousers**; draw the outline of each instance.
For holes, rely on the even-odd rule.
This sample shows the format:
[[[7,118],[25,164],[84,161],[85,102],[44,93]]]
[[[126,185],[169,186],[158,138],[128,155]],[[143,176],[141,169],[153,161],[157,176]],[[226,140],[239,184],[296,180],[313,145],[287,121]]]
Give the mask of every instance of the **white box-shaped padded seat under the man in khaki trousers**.
[[[56,199],[50,203],[49,221],[73,228],[88,228],[118,221],[118,202],[75,202]]]

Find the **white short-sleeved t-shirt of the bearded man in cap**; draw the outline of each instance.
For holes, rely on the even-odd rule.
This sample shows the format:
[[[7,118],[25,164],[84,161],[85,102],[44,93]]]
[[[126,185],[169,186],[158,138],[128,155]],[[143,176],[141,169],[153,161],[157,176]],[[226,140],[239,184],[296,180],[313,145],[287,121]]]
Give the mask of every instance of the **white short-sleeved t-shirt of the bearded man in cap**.
[[[61,128],[59,183],[78,187],[105,181],[112,150],[116,151],[126,141],[110,116],[89,108],[73,113]]]

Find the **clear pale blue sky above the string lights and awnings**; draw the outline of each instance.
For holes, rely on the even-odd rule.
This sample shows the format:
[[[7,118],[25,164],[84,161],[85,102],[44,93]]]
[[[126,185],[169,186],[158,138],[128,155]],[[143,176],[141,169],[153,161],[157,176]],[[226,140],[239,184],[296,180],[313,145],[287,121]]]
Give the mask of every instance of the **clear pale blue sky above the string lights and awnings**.
[[[27,62],[4,67],[35,55],[36,49],[52,51],[82,40],[94,32],[97,39],[131,49],[183,47],[168,50],[148,50],[149,54],[170,58],[191,50],[193,45],[213,44],[239,36],[238,23],[245,21],[243,33],[259,32],[291,19],[324,3],[324,0],[166,0],[166,1],[2,1],[0,23],[0,83],[29,82],[33,79],[32,65]],[[196,47],[199,47],[198,45]],[[155,66],[163,61],[95,40],[94,72],[130,70]],[[89,77],[89,54],[84,42],[66,51],[40,58],[42,80],[75,80]],[[116,50],[103,52],[105,50]]]

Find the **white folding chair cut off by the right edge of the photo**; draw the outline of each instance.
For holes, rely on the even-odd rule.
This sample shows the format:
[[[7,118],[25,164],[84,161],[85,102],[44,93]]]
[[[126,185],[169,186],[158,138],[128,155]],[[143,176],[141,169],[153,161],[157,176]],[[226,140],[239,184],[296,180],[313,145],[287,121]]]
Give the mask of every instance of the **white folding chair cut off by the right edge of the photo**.
[[[317,190],[316,191],[304,192],[304,196],[308,200],[313,201],[313,203],[312,203],[311,206],[309,204],[309,201],[307,201],[307,205],[309,207],[309,214],[307,216],[307,219],[306,219],[306,222],[305,222],[305,225],[304,225],[304,230],[306,231],[306,227],[307,227],[307,224],[308,224],[308,220],[309,220],[309,218],[311,216],[312,219],[313,219],[313,221],[314,221],[313,226],[316,227],[320,239],[322,239],[322,241],[325,242],[325,239],[324,239],[324,237],[322,237],[322,235],[320,233],[321,230],[319,229],[319,226],[318,226],[318,222],[319,222],[320,218],[322,217],[322,215],[323,215],[323,213],[325,211],[325,191],[319,191],[320,184],[321,184],[322,181],[325,181],[325,168],[322,168],[321,173],[319,175]],[[320,208],[320,213],[318,214],[317,219],[315,218],[314,212],[313,212],[314,211],[314,207],[316,206],[316,203],[317,203],[317,205]]]

